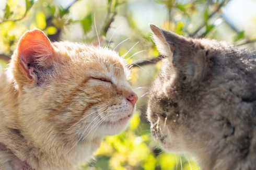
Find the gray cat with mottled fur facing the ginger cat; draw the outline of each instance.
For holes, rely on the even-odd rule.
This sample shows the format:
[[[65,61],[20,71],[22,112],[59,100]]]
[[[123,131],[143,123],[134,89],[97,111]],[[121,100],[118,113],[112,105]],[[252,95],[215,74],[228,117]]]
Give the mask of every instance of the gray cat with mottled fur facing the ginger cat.
[[[201,169],[256,169],[256,54],[150,28],[166,56],[148,102],[153,136]]]

